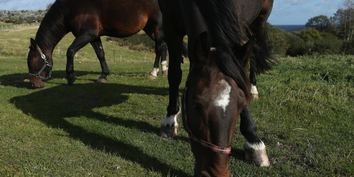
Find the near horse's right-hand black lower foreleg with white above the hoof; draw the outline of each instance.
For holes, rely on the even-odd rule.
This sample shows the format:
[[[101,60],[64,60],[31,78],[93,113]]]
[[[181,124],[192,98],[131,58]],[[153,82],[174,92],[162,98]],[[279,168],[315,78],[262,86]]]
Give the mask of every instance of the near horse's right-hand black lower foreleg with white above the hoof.
[[[245,137],[245,161],[256,166],[269,166],[265,145],[257,136],[257,127],[253,122],[251,110],[244,107],[240,113],[240,131]]]

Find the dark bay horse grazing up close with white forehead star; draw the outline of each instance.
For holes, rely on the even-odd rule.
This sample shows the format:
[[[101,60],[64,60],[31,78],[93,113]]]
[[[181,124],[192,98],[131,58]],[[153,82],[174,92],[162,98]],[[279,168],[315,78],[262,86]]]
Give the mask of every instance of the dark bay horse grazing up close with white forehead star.
[[[159,135],[176,134],[181,111],[181,44],[187,34],[190,69],[182,96],[182,120],[196,160],[194,175],[231,176],[228,154],[238,115],[245,160],[269,166],[249,107],[249,77],[273,63],[265,35],[273,0],[159,0],[159,5],[170,55],[170,98]]]

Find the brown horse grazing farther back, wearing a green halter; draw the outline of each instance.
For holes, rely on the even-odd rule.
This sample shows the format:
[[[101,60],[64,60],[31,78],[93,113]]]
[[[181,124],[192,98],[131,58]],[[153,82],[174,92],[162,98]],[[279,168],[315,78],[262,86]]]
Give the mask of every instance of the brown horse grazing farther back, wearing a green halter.
[[[65,34],[76,37],[67,51],[67,79],[75,81],[73,58],[80,48],[91,43],[102,68],[96,83],[107,82],[108,66],[100,36],[125,38],[144,30],[155,41],[155,64],[150,73],[156,78],[161,58],[167,74],[166,44],[163,41],[162,15],[157,0],[57,0],[45,15],[36,38],[31,39],[28,69],[33,88],[44,87],[53,65],[52,52]]]

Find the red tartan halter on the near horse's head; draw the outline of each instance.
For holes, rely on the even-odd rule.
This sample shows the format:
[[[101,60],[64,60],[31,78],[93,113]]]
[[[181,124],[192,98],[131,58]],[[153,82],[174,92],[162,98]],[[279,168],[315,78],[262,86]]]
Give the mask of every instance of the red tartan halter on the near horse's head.
[[[210,47],[210,51],[215,51],[216,48],[214,47]],[[192,71],[193,69],[193,66],[192,68],[190,68],[190,72]],[[189,73],[190,73],[189,72]],[[202,147],[205,147],[205,148],[208,148],[210,149],[211,151],[213,152],[216,152],[216,153],[220,153],[220,154],[230,154],[231,153],[231,147],[222,147],[222,146],[218,146],[218,145],[215,145],[215,144],[212,144],[212,143],[209,143],[209,142],[206,142],[198,137],[195,137],[192,133],[192,131],[189,129],[189,126],[188,126],[188,120],[187,120],[187,109],[186,109],[186,106],[185,106],[185,99],[187,98],[187,94],[186,94],[186,91],[187,91],[187,82],[188,82],[188,78],[189,78],[189,74],[187,76],[187,80],[185,81],[185,87],[184,87],[184,91],[183,91],[183,95],[182,95],[182,99],[184,101],[184,104],[183,104],[183,108],[184,108],[184,120],[185,120],[185,126],[184,126],[184,129],[188,132],[188,136],[191,140],[193,140],[194,142],[197,142],[199,144],[202,145]]]

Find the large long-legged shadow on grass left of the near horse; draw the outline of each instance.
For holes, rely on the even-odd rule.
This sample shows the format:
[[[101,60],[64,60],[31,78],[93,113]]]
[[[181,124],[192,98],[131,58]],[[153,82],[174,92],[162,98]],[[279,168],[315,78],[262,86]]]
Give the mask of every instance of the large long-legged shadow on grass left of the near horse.
[[[88,72],[87,72],[88,73]],[[147,132],[158,133],[159,127],[148,122],[124,118],[109,118],[107,115],[93,112],[94,108],[110,107],[129,99],[126,93],[146,95],[167,95],[167,88],[141,87],[122,84],[75,84],[74,86],[59,85],[43,89],[29,95],[10,99],[23,113],[30,113],[33,118],[42,121],[47,126],[66,131],[73,139],[78,139],[94,149],[110,153],[118,153],[125,159],[137,162],[148,171],[160,171],[164,176],[188,176],[182,170],[160,162],[157,158],[145,154],[138,147],[109,138],[103,134],[88,132],[83,127],[73,125],[64,118],[85,116],[132,129],[144,129]]]

